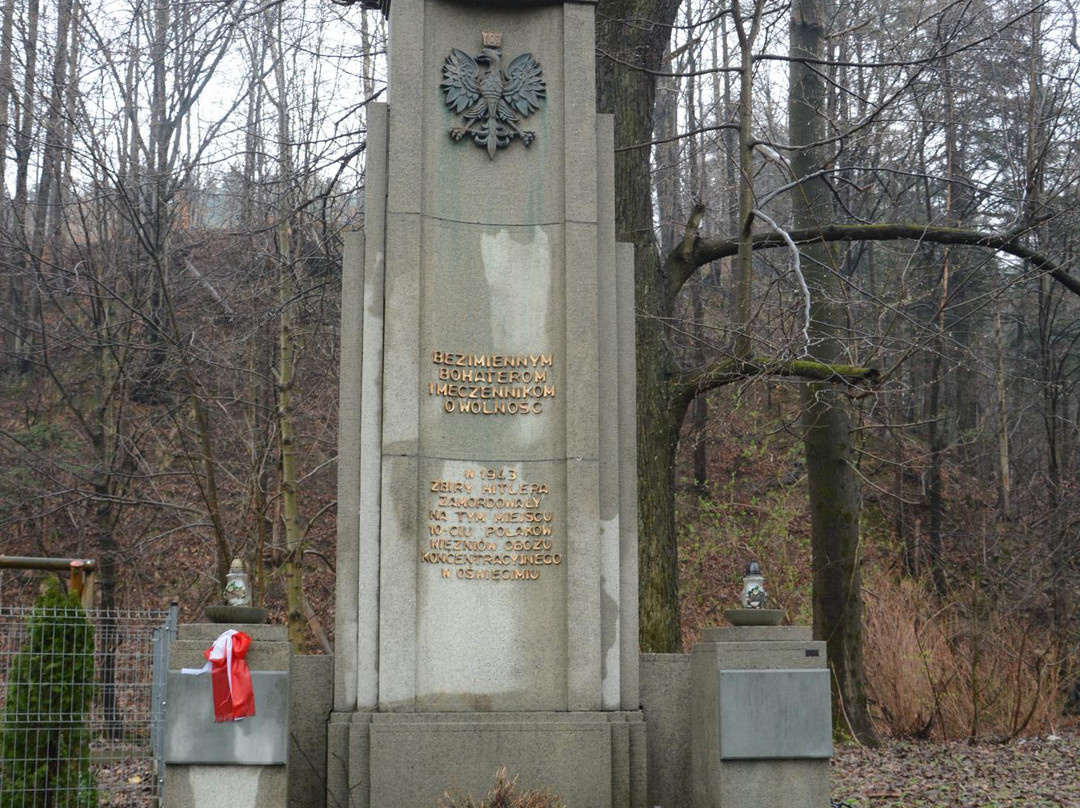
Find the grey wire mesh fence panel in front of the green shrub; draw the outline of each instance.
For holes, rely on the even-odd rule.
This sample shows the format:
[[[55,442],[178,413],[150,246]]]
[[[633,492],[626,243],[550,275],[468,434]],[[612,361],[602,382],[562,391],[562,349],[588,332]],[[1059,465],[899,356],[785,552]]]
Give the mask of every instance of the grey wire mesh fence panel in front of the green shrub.
[[[176,612],[0,606],[0,808],[153,808]]]

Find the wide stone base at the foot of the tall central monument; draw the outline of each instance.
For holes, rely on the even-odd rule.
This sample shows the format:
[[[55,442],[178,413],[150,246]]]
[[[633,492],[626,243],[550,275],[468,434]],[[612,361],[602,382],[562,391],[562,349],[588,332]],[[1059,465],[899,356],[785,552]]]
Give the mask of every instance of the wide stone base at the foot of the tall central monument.
[[[329,772],[327,803],[350,808],[434,808],[447,791],[480,799],[502,766],[565,805],[646,805],[640,712],[336,713],[329,743],[348,767]]]

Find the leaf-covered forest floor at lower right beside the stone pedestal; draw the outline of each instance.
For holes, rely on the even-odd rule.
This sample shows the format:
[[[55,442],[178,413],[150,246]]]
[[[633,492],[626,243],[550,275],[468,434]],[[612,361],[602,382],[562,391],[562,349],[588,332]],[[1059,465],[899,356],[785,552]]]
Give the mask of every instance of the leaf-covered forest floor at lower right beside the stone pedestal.
[[[832,791],[846,808],[1078,808],[1080,727],[1003,743],[840,744]]]

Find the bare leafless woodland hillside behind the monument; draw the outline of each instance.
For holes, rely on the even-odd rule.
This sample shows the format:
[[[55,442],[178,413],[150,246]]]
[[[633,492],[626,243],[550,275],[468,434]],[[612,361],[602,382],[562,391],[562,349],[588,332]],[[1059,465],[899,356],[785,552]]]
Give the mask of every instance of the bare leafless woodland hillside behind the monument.
[[[97,558],[103,607],[175,597],[184,620],[240,556],[294,643],[330,648],[340,234],[363,223],[381,17],[0,15],[0,553]],[[638,244],[643,648],[689,648],[757,558],[847,660],[860,738],[1052,731],[1080,708],[1076,11],[597,17]],[[807,80],[814,120],[791,126]],[[863,237],[796,262],[780,235],[833,226]],[[828,413],[843,490],[813,466]],[[849,494],[848,538],[822,539],[810,503]],[[35,591],[0,578],[5,603]]]

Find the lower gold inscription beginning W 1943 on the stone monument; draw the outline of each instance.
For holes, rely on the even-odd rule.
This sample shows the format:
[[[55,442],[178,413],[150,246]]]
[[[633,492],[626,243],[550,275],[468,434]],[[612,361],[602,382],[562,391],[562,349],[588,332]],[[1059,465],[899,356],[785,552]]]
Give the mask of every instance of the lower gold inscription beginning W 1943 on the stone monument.
[[[465,469],[461,480],[430,481],[427,546],[420,561],[442,578],[535,581],[559,566],[548,483],[512,468]]]

